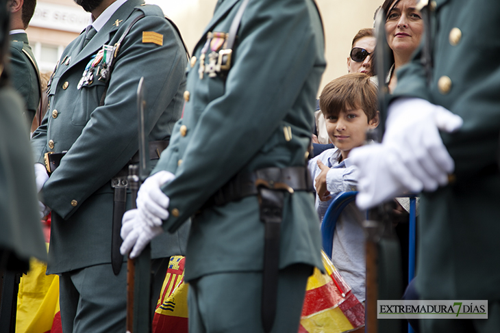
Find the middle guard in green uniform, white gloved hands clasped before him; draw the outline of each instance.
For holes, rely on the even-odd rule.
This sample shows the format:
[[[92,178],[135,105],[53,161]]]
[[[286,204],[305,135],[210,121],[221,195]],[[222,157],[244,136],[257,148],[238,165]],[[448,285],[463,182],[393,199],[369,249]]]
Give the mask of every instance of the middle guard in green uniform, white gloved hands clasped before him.
[[[136,256],[192,217],[190,332],[298,330],[321,267],[306,161],[323,53],[312,0],[218,1],[195,46],[184,118],[122,227]]]

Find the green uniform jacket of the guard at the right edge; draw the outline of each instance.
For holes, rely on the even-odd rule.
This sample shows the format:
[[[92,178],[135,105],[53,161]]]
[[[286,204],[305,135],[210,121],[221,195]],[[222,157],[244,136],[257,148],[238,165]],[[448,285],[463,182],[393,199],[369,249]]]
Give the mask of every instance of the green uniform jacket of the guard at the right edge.
[[[498,1],[436,0],[430,83],[419,57],[397,72],[395,96],[425,98],[464,120],[458,132],[442,133],[456,181],[422,194],[423,299],[500,299],[499,14]]]

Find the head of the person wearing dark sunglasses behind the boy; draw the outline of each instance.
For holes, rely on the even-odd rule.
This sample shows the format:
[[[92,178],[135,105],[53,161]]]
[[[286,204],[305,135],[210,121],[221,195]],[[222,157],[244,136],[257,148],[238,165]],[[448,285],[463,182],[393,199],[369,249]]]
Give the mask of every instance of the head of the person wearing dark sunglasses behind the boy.
[[[365,73],[374,75],[373,51],[375,51],[374,29],[361,29],[353,38],[351,53],[347,57],[347,71],[350,73]]]

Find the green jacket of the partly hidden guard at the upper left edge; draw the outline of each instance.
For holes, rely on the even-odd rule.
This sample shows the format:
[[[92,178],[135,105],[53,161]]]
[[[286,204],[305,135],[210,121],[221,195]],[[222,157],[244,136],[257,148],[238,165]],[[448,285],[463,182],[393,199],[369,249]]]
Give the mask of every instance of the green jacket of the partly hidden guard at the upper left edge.
[[[10,81],[25,100],[28,126],[40,103],[40,73],[27,34],[10,35]]]

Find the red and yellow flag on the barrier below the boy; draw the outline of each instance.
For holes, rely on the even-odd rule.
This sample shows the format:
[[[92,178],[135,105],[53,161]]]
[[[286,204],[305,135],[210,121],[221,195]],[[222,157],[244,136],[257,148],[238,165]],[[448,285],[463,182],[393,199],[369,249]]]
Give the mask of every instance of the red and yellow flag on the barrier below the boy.
[[[364,306],[321,251],[326,274],[314,269],[305,291],[299,333],[340,333],[364,326]]]

